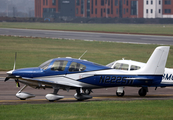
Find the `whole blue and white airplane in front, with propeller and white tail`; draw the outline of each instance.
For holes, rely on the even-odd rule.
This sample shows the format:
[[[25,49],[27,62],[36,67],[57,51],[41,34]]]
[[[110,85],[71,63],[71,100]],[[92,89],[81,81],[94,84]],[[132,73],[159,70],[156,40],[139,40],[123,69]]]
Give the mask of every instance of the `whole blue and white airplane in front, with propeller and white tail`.
[[[119,87],[119,86],[158,86],[162,80],[166,65],[169,46],[157,47],[146,65],[134,72],[116,70],[87,60],[75,58],[50,59],[39,67],[15,69],[8,71],[4,81],[14,79],[18,86],[24,84],[16,97],[21,100],[35,97],[35,95],[22,92],[27,86],[32,88],[53,88],[53,93],[45,98],[50,102],[63,99],[58,95],[60,89],[76,90],[74,98],[78,101],[91,99],[91,89]]]

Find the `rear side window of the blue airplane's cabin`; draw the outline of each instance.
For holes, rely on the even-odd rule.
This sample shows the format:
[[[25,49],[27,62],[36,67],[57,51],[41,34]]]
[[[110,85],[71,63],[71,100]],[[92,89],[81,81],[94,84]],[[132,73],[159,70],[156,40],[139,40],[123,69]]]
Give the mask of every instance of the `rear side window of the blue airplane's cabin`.
[[[86,69],[85,65],[82,65],[80,63],[72,62],[68,71],[69,72],[82,72]]]

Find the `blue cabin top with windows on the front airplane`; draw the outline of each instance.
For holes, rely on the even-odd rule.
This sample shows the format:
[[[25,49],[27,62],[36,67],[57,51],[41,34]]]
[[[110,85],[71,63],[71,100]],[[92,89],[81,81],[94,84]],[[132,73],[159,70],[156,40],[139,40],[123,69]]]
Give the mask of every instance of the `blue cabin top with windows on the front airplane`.
[[[67,71],[67,72],[82,72],[100,69],[109,69],[93,62],[83,61],[73,58],[55,58],[50,59],[39,66],[44,71],[50,69],[51,71]]]

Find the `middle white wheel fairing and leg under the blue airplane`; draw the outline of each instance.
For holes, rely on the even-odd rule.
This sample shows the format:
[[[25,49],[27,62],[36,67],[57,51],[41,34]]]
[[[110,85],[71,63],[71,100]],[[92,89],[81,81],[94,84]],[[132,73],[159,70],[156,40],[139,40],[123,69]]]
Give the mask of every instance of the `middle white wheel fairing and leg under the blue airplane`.
[[[54,102],[55,100],[63,99],[64,96],[58,95],[59,89],[54,89],[53,93],[47,94],[45,97],[49,102]]]

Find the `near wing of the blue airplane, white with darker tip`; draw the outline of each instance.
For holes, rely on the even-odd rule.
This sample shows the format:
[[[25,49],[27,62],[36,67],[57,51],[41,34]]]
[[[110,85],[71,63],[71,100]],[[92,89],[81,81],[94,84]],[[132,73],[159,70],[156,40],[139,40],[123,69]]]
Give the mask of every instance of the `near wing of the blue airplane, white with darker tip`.
[[[68,87],[79,87],[81,88],[81,85],[77,85],[77,84],[73,84],[70,82],[66,82],[66,81],[50,81],[50,80],[42,80],[42,79],[34,79],[34,78],[26,78],[26,77],[22,77],[22,80],[24,81],[28,81],[28,82],[40,82],[42,84],[48,84],[48,85],[60,85],[60,86],[68,86]]]

